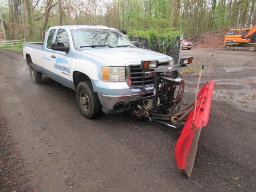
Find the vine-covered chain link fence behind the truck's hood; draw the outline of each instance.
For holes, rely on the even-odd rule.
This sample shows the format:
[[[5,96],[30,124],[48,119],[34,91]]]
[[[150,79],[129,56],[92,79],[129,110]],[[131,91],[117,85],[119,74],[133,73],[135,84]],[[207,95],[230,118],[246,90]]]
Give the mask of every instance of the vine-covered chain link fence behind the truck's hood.
[[[172,38],[159,39],[156,38],[153,44],[150,44],[147,38],[141,38],[137,36],[130,36],[130,41],[138,42],[138,48],[144,48],[156,52],[166,54],[173,58],[174,64],[178,64],[182,51],[182,35],[173,36]]]

